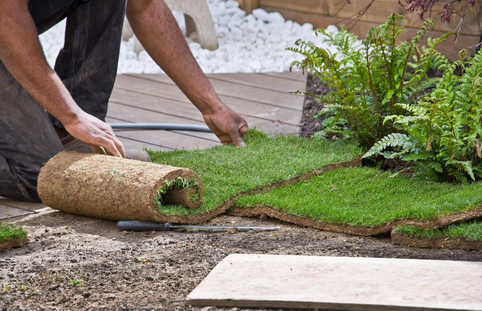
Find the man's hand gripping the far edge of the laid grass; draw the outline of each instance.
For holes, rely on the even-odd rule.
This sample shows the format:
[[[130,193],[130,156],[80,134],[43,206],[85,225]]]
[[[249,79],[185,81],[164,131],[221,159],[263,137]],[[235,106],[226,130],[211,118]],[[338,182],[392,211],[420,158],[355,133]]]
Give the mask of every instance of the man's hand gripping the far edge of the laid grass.
[[[204,122],[223,144],[244,146],[243,136],[248,130],[246,120],[226,105],[203,114]]]

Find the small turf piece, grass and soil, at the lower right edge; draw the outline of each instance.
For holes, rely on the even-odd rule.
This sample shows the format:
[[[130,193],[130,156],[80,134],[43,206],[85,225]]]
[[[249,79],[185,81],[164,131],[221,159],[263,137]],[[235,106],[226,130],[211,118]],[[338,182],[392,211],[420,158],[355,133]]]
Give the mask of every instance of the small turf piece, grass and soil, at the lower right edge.
[[[482,220],[452,224],[440,229],[401,225],[392,231],[392,240],[413,247],[482,250]]]

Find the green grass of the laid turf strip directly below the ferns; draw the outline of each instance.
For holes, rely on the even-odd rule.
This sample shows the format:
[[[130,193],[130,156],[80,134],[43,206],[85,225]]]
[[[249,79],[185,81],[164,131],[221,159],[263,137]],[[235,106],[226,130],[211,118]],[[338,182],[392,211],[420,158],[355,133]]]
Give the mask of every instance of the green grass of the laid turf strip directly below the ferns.
[[[403,218],[431,220],[482,204],[482,183],[439,184],[391,177],[375,168],[347,168],[257,195],[235,207],[270,206],[301,218],[376,227]]]

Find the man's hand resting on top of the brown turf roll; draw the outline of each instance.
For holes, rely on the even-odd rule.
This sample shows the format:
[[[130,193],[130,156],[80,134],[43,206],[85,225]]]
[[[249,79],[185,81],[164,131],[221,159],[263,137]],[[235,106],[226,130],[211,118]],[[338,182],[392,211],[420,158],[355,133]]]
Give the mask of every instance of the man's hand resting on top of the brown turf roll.
[[[83,112],[80,117],[63,123],[63,125],[72,136],[88,143],[94,152],[98,153],[99,146],[101,146],[107,149],[112,156],[126,157],[124,146],[115,137],[112,127],[96,117]]]

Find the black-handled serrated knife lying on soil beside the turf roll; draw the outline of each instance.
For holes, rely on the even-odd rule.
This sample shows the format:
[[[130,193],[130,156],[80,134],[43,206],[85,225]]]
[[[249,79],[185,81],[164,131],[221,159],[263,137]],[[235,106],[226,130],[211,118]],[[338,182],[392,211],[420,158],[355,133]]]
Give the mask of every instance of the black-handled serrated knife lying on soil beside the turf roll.
[[[199,230],[211,230],[211,229],[254,229],[254,230],[278,230],[279,226],[219,226],[219,225],[176,225],[171,223],[160,224],[158,222],[141,221],[141,220],[126,220],[117,222],[117,228],[125,231],[169,231],[171,228],[184,228],[184,229],[199,229]]]

